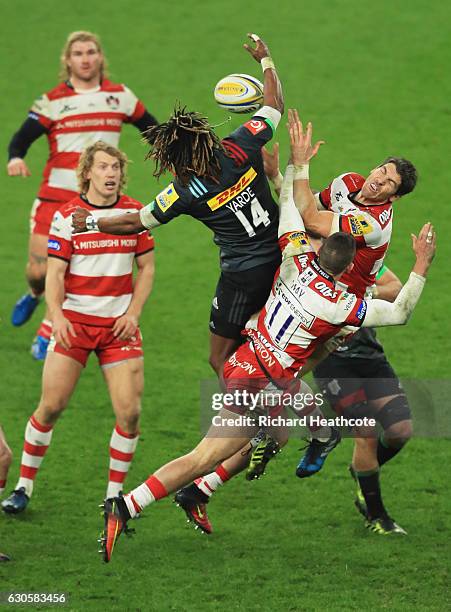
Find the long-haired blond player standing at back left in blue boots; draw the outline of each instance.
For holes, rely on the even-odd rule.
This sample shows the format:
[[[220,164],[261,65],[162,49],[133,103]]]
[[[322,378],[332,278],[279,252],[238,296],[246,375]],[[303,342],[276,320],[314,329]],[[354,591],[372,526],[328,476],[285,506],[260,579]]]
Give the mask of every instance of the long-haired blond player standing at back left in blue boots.
[[[29,293],[16,303],[12,324],[23,325],[44,293],[47,239],[56,210],[77,195],[76,169],[85,147],[97,140],[118,146],[122,125],[141,133],[157,121],[128,87],[107,78],[106,58],[91,32],[69,34],[61,55],[61,83],[40,96],[8,147],[9,176],[30,176],[24,157],[45,134],[49,158],[30,218],[26,276]],[[51,335],[48,311],[33,341],[32,355],[44,359]]]

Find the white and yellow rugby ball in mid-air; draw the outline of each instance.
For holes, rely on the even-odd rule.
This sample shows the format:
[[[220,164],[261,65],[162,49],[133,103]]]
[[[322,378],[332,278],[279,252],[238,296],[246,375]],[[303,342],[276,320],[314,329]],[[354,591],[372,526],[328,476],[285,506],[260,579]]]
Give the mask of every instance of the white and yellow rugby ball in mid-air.
[[[252,113],[263,105],[263,84],[248,74],[229,74],[215,87],[221,108],[232,113]]]

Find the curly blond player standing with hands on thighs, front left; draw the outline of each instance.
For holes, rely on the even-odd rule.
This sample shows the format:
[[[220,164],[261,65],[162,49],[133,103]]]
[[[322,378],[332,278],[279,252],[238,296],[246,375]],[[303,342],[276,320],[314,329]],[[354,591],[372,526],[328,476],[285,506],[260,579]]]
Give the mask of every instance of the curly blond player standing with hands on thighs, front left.
[[[71,214],[83,207],[94,216],[142,208],[121,195],[127,158],[102,141],[80,158],[81,195],[55,213],[49,237],[46,299],[54,322],[44,364],[42,396],[25,429],[16,490],[5,512],[25,510],[53,428],[67,406],[91,352],[95,352],[116,415],[110,441],[107,495],[117,495],[139,435],[144,363],[139,317],[152,288],[154,241],[147,231],[127,238],[101,232],[72,234]],[[137,275],[133,283],[133,262]]]

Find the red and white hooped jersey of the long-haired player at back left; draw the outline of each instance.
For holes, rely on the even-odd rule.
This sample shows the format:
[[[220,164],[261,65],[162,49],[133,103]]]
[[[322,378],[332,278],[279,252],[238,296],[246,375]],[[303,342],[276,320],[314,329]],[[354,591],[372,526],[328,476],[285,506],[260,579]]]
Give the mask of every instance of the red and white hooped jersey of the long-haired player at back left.
[[[98,140],[115,147],[122,124],[134,122],[145,107],[125,85],[104,79],[89,91],[60,83],[38,98],[29,116],[46,129],[49,158],[38,198],[67,202],[78,191],[75,170],[83,149]]]

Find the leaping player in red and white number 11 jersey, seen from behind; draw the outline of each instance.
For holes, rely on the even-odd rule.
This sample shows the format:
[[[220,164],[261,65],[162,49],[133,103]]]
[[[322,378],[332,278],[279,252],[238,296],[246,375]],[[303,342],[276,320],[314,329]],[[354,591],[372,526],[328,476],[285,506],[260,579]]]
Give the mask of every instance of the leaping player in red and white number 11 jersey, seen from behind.
[[[305,173],[305,169],[289,166],[282,186],[279,222],[282,264],[272,292],[258,320],[245,330],[248,341],[224,366],[227,391],[260,392],[263,407],[268,407],[265,400],[270,393],[292,395],[304,387],[304,381],[297,379],[303,365],[315,348],[335,336],[340,328],[359,327],[363,322],[366,326],[405,324],[421,295],[435,252],[435,234],[426,224],[414,242],[416,262],[409,280],[393,304],[377,299],[366,302],[340,291],[336,281],[352,269],[355,241],[348,234],[337,232],[326,239],[316,257],[292,198],[293,178],[297,180],[301,172]],[[318,409],[313,405],[310,410],[314,414]],[[219,414],[230,419],[228,428],[212,425],[191,453],[161,467],[125,497],[105,501],[105,532],[101,539],[105,561],[111,559],[115,542],[130,518],[208,473],[249,443],[255,427],[243,428],[242,412],[238,405],[231,410],[223,408]],[[279,414],[284,414],[280,403],[269,408],[270,417]],[[228,437],[231,432],[233,437]],[[281,427],[275,428],[273,435],[284,441],[286,433]],[[333,432],[330,442],[333,448]]]

